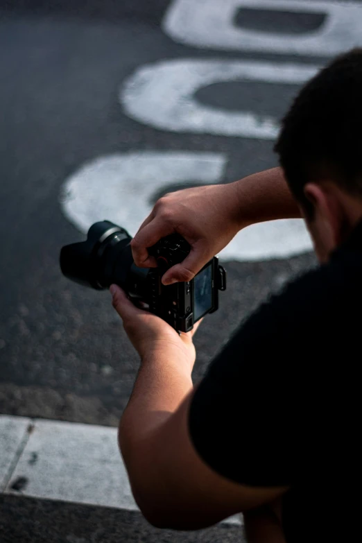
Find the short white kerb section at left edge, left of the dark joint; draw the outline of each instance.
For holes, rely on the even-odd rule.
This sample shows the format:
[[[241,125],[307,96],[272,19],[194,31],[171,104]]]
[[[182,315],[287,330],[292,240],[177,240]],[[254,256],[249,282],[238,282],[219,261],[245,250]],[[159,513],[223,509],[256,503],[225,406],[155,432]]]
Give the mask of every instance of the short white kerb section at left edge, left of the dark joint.
[[[28,440],[31,419],[0,415],[0,492],[6,487]]]

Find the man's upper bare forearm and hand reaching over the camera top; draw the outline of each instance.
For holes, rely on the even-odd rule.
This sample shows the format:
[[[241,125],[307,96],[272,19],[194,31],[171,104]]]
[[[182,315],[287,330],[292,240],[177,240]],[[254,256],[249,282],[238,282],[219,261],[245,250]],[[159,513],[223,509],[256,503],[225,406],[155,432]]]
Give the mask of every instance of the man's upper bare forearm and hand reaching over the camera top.
[[[277,218],[300,217],[282,169],[248,175],[229,184],[172,192],[160,198],[131,242],[137,266],[157,266],[147,248],[178,232],[191,245],[189,256],[164,273],[162,282],[189,281],[241,228]]]

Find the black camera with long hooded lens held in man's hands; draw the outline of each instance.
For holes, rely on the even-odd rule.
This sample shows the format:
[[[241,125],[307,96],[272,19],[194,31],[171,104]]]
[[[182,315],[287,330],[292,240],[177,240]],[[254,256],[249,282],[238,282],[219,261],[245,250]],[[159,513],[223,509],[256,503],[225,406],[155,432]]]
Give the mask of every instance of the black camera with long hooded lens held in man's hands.
[[[190,331],[200,318],[218,309],[218,291],[225,291],[226,273],[216,257],[191,281],[165,286],[162,275],[187,257],[189,243],[178,234],[166,236],[148,248],[157,268],[139,268],[132,258],[131,240],[124,228],[110,221],[94,223],[86,241],[62,247],[62,273],[96,290],[118,284],[138,307],[155,313],[176,331]]]

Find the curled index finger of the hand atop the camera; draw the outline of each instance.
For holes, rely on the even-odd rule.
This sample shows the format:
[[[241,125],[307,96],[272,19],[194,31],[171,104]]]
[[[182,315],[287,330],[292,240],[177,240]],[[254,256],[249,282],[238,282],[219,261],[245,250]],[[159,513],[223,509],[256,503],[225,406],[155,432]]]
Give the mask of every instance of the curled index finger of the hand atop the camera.
[[[152,247],[152,245],[155,245],[161,238],[168,236],[173,232],[174,229],[170,224],[157,218],[153,219],[139,230],[130,243],[132,257],[136,266],[153,268],[157,266],[156,260],[148,255],[147,248]]]

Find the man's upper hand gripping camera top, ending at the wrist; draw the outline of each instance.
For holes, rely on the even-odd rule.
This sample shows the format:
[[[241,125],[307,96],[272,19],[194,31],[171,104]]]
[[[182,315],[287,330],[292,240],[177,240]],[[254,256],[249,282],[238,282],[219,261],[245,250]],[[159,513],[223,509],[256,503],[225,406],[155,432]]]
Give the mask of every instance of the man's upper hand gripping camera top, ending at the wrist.
[[[187,258],[164,273],[163,284],[190,281],[239,230],[239,196],[235,183],[207,185],[166,194],[131,241],[137,266],[157,266],[147,248],[178,232],[191,245]]]

